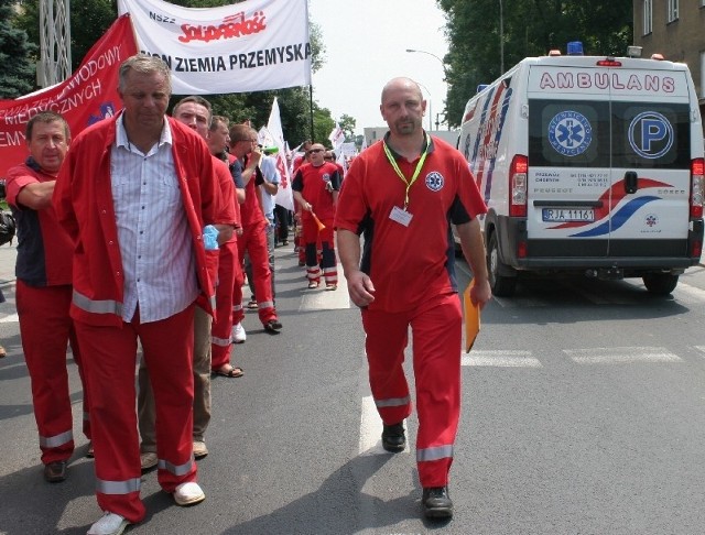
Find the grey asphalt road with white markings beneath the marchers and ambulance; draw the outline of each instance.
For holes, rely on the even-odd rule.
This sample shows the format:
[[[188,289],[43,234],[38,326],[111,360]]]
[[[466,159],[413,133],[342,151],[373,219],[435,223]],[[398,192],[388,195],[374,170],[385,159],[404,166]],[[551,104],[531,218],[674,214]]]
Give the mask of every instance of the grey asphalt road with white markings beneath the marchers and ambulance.
[[[359,313],[305,290],[291,245],[276,251],[272,336],[248,313],[241,379],[217,378],[207,494],[182,509],[143,477],[134,534],[705,533],[705,273],[672,297],[639,281],[536,281],[482,314],[463,356],[464,408],[449,523],[421,518],[413,447],[384,454],[369,398]],[[0,249],[0,280],[2,280]],[[463,276],[464,282],[467,281]],[[84,534],[100,515],[78,448],[69,479],[42,479],[30,384],[13,310],[0,305],[0,534]],[[246,293],[246,297],[249,296]],[[409,421],[413,446],[416,422]]]

